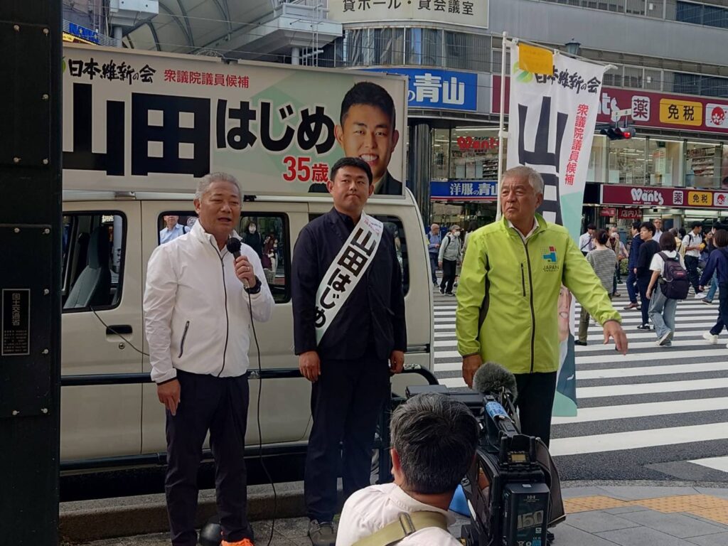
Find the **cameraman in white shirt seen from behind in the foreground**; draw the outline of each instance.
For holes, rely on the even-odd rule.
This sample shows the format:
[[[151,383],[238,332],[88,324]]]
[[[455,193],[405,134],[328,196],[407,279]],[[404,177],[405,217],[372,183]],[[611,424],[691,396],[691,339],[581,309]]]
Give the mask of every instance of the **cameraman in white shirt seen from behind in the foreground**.
[[[449,397],[412,397],[392,414],[392,475],[395,483],[371,486],[349,496],[341,512],[336,546],[369,537],[401,513],[448,514],[455,489],[470,468],[478,445],[478,423],[470,410]],[[400,546],[460,546],[440,527],[417,527]],[[391,542],[391,539],[384,544]]]

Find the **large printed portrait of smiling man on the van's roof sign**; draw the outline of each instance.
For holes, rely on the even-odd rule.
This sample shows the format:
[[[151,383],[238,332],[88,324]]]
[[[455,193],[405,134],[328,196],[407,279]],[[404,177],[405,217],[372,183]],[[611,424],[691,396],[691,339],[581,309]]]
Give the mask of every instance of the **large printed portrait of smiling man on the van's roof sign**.
[[[347,91],[334,133],[344,155],[358,157],[371,168],[374,194],[402,195],[402,183],[389,173],[400,132],[395,128],[395,103],[384,87],[358,82]],[[322,183],[309,187],[312,193],[325,191]]]

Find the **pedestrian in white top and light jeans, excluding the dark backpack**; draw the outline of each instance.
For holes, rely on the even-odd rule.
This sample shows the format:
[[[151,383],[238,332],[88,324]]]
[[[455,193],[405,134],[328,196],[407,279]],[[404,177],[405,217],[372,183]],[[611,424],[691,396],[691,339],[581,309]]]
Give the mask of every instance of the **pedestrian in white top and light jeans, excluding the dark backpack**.
[[[680,265],[685,268],[685,261],[680,253],[676,250],[675,237],[670,232],[663,232],[660,236],[660,252],[652,256],[652,262],[649,269],[652,271],[652,278],[649,280],[647,287],[647,299],[649,299],[649,319],[654,324],[654,332],[657,333],[657,344],[660,347],[670,347],[672,345],[673,336],[675,335],[675,311],[678,301],[668,298],[662,293],[661,288],[655,289],[658,285],[657,280],[662,276],[665,269],[665,260],[660,254],[665,254],[667,258],[678,258]]]

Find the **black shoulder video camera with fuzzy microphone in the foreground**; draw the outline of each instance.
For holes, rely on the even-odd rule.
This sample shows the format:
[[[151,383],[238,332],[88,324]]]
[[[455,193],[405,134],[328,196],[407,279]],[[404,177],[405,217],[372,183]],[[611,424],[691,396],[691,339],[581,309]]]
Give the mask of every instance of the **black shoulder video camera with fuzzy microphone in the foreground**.
[[[539,438],[520,432],[515,411],[515,377],[485,363],[473,378],[475,391],[410,387],[407,396],[440,392],[467,405],[480,421],[475,462],[462,480],[470,524],[461,538],[468,546],[546,546],[547,526],[563,520],[558,472]]]

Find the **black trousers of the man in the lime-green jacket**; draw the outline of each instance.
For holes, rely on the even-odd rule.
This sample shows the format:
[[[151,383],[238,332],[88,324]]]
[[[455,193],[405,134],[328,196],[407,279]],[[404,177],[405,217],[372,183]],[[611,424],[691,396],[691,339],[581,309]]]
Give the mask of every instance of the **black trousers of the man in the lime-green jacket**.
[[[556,372],[514,373],[518,397],[515,405],[521,419],[521,433],[537,436],[548,446],[551,440],[551,411],[556,394]]]

